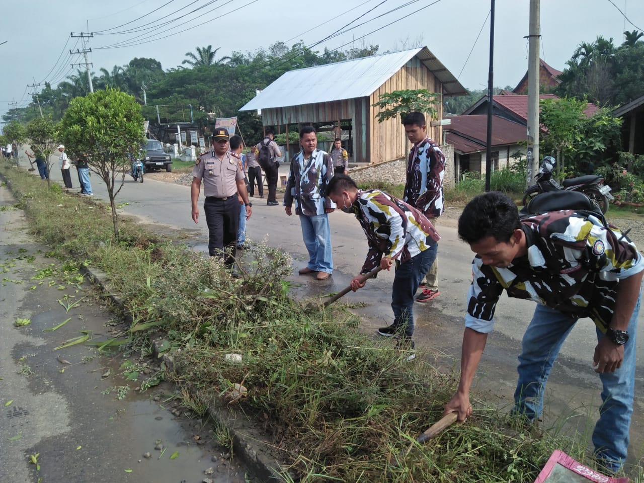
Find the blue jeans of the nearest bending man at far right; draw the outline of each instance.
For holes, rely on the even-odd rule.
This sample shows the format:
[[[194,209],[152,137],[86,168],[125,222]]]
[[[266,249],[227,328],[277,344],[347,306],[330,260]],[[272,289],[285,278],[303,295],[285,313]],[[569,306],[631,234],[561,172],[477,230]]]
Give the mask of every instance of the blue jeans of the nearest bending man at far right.
[[[603,464],[611,471],[621,468],[629,448],[640,299],[641,294],[627,328],[630,338],[624,345],[621,368],[615,372],[599,374],[603,386],[602,404],[600,419],[592,432],[592,443],[596,457],[603,460]],[[567,314],[537,305],[522,341],[513,412],[524,414],[529,419],[540,417],[544,406],[545,383],[554,359],[575,322],[576,319]],[[596,329],[596,332],[597,339],[601,339],[603,334],[599,329]]]

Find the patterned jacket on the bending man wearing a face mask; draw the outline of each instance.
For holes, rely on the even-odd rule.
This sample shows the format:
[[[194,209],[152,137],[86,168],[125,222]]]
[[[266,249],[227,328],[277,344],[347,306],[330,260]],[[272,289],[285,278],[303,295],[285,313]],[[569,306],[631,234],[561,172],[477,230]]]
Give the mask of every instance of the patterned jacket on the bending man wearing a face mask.
[[[440,239],[424,214],[383,191],[358,191],[352,206],[369,244],[361,274],[380,265],[383,255],[404,263]]]

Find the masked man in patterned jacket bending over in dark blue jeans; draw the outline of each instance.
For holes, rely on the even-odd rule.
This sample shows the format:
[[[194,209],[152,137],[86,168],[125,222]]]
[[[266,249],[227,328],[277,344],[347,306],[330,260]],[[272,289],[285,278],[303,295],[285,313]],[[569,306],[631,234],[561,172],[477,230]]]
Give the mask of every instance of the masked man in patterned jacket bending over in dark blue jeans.
[[[378,334],[397,336],[400,348],[413,349],[413,296],[436,258],[439,234],[419,209],[377,189],[359,190],[347,175],[334,176],[327,191],[342,211],[355,214],[365,231],[369,251],[360,273],[367,274],[378,266],[390,270],[395,261],[393,324],[379,328]],[[351,280],[354,292],[364,286],[361,276]],[[406,360],[414,357],[412,352]]]

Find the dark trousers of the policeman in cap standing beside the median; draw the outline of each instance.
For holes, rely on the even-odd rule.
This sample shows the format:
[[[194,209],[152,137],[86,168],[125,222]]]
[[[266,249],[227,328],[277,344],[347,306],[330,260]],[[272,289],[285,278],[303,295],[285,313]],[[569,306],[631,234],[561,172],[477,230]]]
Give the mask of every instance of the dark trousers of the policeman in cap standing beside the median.
[[[240,225],[237,194],[228,196],[226,200],[207,196],[204,213],[208,225],[208,252],[210,256],[223,256],[226,265],[231,267],[237,254],[235,245]]]

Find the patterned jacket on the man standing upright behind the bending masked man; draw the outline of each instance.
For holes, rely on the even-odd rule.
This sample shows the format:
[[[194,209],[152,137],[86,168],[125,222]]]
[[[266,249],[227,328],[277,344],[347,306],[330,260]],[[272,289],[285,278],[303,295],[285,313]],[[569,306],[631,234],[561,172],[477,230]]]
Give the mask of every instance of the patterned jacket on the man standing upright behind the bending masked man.
[[[424,138],[409,153],[403,201],[421,210],[428,218],[440,216],[444,207],[444,171],[445,155],[435,142]]]

